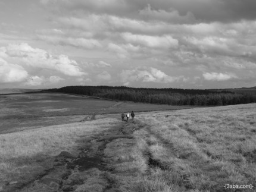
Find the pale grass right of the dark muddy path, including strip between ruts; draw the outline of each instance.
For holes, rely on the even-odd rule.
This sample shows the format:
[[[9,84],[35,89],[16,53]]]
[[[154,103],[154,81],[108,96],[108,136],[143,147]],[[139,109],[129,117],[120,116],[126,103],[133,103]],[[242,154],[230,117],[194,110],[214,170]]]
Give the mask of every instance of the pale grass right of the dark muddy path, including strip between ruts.
[[[256,104],[144,113],[134,144],[107,145],[109,175],[121,191],[225,191],[255,186]],[[242,191],[252,191],[243,189]]]

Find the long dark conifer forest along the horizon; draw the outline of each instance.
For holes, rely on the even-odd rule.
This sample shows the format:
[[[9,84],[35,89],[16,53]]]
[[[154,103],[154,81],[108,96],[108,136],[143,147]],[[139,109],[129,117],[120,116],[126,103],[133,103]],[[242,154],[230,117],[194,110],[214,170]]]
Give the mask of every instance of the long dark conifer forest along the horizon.
[[[47,91],[168,105],[236,105],[256,102],[256,95],[233,93],[224,90],[67,86]]]

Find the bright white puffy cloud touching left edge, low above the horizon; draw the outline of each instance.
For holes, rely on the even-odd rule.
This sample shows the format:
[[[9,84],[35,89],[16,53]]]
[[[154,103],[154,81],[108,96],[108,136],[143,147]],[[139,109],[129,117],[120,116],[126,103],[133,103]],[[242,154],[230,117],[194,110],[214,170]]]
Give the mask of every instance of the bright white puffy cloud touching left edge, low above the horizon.
[[[20,65],[10,64],[0,58],[0,83],[14,83],[24,81],[28,73]]]

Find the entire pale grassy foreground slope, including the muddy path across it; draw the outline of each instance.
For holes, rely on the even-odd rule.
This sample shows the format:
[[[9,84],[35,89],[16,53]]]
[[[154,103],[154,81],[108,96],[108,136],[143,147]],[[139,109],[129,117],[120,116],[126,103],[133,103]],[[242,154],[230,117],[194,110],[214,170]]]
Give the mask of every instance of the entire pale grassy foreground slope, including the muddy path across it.
[[[116,114],[96,115],[95,121],[0,134],[0,188],[28,180],[19,191],[196,192],[234,191],[225,190],[226,184],[255,186],[255,108],[142,112],[128,122]],[[54,155],[62,150],[80,155],[73,163],[85,165],[67,159],[58,165]],[[46,182],[50,178],[56,180]]]

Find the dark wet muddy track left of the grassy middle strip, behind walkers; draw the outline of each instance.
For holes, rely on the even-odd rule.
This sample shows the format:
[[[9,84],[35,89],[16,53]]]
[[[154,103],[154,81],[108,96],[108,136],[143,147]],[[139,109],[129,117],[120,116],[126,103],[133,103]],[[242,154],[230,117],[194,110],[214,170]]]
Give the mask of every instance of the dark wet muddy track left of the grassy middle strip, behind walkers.
[[[29,182],[7,184],[5,191],[120,191],[108,177],[113,170],[108,167],[110,159],[104,150],[113,140],[133,140],[133,127],[132,121],[117,122],[105,133],[83,139],[78,156],[61,152],[54,157],[51,169]]]

